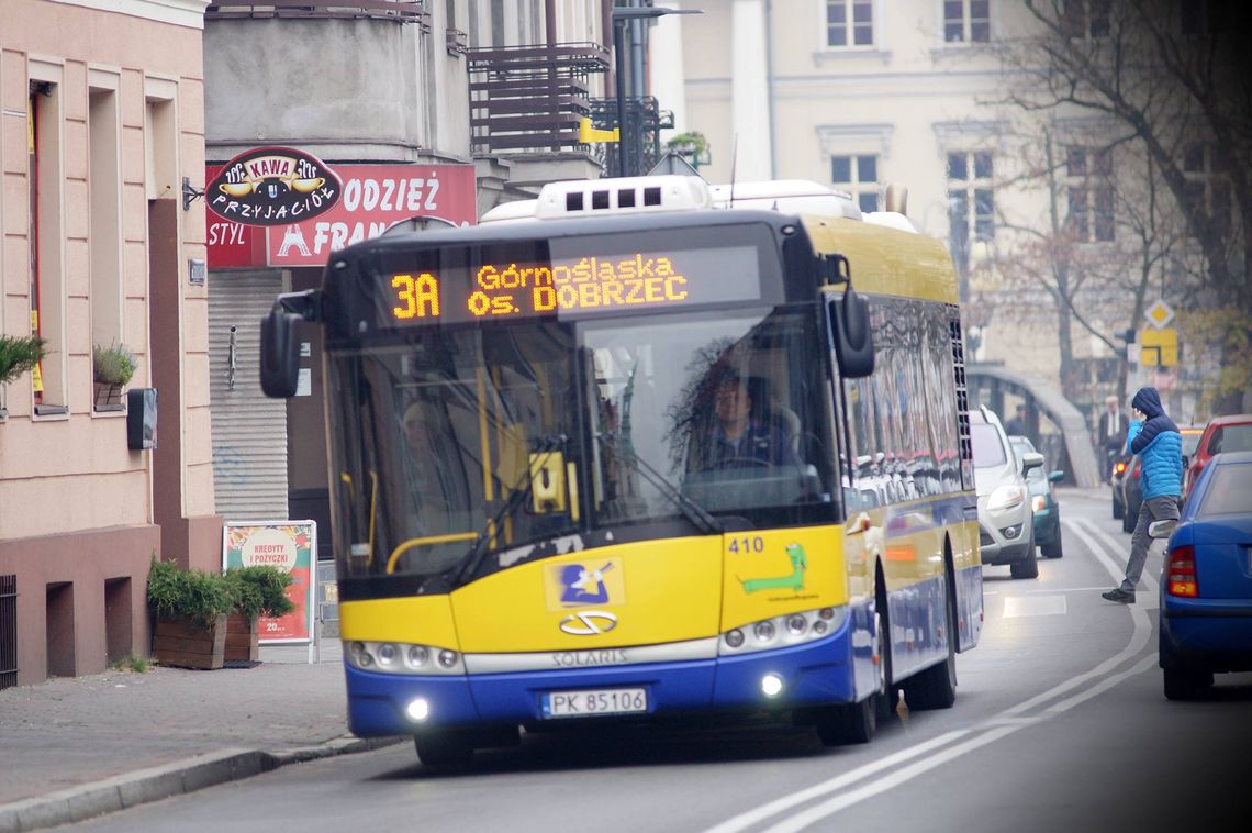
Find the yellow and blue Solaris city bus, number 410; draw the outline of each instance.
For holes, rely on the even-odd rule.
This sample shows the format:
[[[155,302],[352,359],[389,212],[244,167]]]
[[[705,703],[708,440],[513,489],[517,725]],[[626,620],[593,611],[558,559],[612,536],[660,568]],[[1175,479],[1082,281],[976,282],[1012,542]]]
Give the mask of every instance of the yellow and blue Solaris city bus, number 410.
[[[953,704],[983,614],[952,262],[806,188],[553,183],[275,301],[267,393],[324,331],[353,733],[449,764],[561,722],[856,743],[900,691]]]

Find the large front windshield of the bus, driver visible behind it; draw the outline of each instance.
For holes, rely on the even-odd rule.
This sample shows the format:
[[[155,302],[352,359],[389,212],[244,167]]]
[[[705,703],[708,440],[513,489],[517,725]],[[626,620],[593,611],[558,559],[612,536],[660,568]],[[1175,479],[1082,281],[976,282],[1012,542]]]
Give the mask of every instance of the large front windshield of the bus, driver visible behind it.
[[[438,591],[736,519],[829,521],[816,316],[801,303],[461,324],[332,349],[344,575]]]

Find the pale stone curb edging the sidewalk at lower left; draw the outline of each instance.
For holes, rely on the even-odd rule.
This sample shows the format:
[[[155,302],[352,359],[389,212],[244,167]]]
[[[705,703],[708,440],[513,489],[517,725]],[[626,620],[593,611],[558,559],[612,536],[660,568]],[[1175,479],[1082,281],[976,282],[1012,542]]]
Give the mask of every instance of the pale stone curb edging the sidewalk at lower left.
[[[0,804],[0,833],[19,833],[81,822],[170,795],[194,793],[229,780],[252,778],[287,764],[369,752],[404,740],[406,738],[343,735],[313,747],[295,747],[279,752],[263,752],[260,749],[210,752],[170,764],[105,778],[81,787]]]

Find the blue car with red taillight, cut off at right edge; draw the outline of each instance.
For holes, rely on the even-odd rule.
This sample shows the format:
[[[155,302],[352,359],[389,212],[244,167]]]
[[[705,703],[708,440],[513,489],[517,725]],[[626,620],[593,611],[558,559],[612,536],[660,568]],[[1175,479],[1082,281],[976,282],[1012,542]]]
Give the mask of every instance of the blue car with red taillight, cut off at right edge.
[[[1252,452],[1204,467],[1161,572],[1166,696],[1203,695],[1214,671],[1252,670]]]

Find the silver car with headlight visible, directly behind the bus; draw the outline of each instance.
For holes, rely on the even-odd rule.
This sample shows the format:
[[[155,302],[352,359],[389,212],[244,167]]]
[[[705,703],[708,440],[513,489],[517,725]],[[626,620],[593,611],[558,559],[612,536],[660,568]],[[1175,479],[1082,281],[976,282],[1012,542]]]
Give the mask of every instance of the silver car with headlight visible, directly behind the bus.
[[[1014,579],[1034,579],[1039,575],[1039,564],[1025,472],[1042,466],[1043,455],[1025,452],[1019,460],[999,417],[987,406],[969,412],[969,433],[974,443],[983,564],[1008,564]]]

